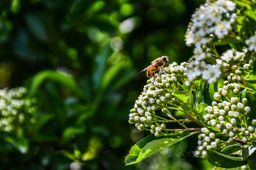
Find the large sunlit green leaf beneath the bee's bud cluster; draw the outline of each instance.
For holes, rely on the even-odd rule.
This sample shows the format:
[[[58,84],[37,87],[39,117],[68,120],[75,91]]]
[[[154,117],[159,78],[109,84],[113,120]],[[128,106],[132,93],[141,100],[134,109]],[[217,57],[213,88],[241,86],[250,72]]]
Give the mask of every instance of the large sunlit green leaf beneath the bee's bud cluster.
[[[141,139],[138,143],[132,146],[129,151],[129,155],[125,157],[125,165],[136,164],[141,162],[141,160],[146,159],[150,155],[163,150],[164,148],[171,146],[179,141],[182,141],[189,136],[196,134],[197,132],[177,132],[169,136],[155,137],[150,134],[144,139]]]

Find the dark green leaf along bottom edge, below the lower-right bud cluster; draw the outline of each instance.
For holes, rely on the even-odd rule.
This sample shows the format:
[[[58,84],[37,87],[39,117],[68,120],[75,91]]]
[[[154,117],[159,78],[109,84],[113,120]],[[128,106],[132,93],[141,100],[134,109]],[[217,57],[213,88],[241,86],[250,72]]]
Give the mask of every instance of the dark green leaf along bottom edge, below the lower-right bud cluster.
[[[247,164],[247,161],[243,160],[242,157],[234,157],[214,150],[209,152],[207,159],[214,166],[225,168],[239,167]]]

